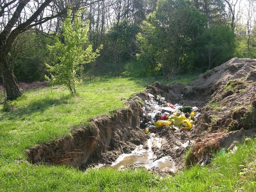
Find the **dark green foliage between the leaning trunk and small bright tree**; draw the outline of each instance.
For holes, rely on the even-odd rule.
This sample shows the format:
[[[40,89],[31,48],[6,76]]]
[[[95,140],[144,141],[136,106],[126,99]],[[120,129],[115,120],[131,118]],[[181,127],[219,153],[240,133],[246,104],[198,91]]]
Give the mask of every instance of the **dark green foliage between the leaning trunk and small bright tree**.
[[[45,63],[51,60],[47,45],[53,44],[51,38],[29,30],[16,39],[10,53],[14,63],[14,74],[20,81],[44,80]]]

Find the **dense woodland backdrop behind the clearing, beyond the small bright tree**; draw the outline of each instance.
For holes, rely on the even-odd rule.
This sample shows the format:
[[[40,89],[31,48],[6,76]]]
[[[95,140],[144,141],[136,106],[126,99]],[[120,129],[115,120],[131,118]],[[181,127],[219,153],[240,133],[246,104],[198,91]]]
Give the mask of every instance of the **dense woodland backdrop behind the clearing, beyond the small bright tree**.
[[[10,6],[4,9],[8,2],[13,1],[1,4],[1,31],[13,14]],[[57,2],[52,4],[56,10],[67,6],[66,1]],[[81,75],[170,80],[180,73],[203,72],[235,56],[255,58],[255,8],[252,0],[96,0],[80,4],[72,8],[71,16],[82,10],[93,50],[103,45],[100,56],[85,64]],[[18,81],[45,79],[46,63],[54,59],[48,45],[54,44],[56,34],[62,34],[66,16],[63,12],[15,38],[8,58]],[[24,22],[23,18],[17,22]]]

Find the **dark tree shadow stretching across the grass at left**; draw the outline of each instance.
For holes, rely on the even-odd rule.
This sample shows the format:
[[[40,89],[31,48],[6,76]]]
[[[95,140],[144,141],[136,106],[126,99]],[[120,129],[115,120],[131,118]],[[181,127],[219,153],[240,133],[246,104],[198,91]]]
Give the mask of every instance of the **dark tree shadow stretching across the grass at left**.
[[[44,112],[47,108],[51,106],[58,106],[61,104],[68,104],[68,100],[72,98],[73,96],[71,94],[60,96],[59,98],[50,98],[47,97],[43,98],[41,100],[36,100],[34,102],[30,102],[30,104],[26,107],[14,109],[10,112],[7,112],[5,114],[2,114],[0,116],[0,121],[4,120],[22,120],[22,116],[30,116],[33,113],[36,112]]]

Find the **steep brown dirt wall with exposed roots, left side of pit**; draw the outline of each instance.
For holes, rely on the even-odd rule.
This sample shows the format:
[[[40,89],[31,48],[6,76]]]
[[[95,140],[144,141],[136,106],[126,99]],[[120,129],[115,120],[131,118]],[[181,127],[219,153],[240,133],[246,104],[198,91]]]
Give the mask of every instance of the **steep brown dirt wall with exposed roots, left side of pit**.
[[[125,141],[129,130],[140,124],[138,98],[128,107],[90,119],[91,126],[73,127],[72,134],[54,142],[26,150],[28,161],[84,168],[101,158],[102,152],[114,147],[116,141]]]

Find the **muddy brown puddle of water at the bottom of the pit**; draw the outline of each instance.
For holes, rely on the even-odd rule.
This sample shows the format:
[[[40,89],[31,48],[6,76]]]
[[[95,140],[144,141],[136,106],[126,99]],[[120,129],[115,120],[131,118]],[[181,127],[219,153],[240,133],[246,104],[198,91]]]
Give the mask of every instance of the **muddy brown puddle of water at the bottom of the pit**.
[[[163,156],[156,160],[156,156],[152,152],[152,143],[156,140],[156,145],[161,148],[162,138],[154,137],[155,134],[151,134],[150,139],[148,139],[148,150],[145,150],[142,145],[137,146],[137,148],[130,154],[122,154],[118,159],[111,164],[113,168],[125,168],[127,165],[132,165],[135,167],[144,166],[146,168],[152,168],[153,166],[158,167],[160,170],[169,168],[175,171],[175,163],[170,156]]]

